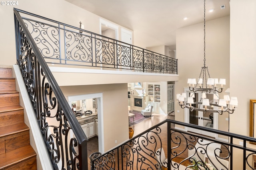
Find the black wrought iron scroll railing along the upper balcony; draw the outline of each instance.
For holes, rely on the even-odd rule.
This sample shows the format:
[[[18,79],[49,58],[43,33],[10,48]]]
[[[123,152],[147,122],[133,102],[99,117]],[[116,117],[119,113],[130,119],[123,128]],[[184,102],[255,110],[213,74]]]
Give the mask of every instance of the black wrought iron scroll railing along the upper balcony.
[[[17,11],[24,14],[22,19],[46,63],[177,74],[177,59],[22,10]]]

